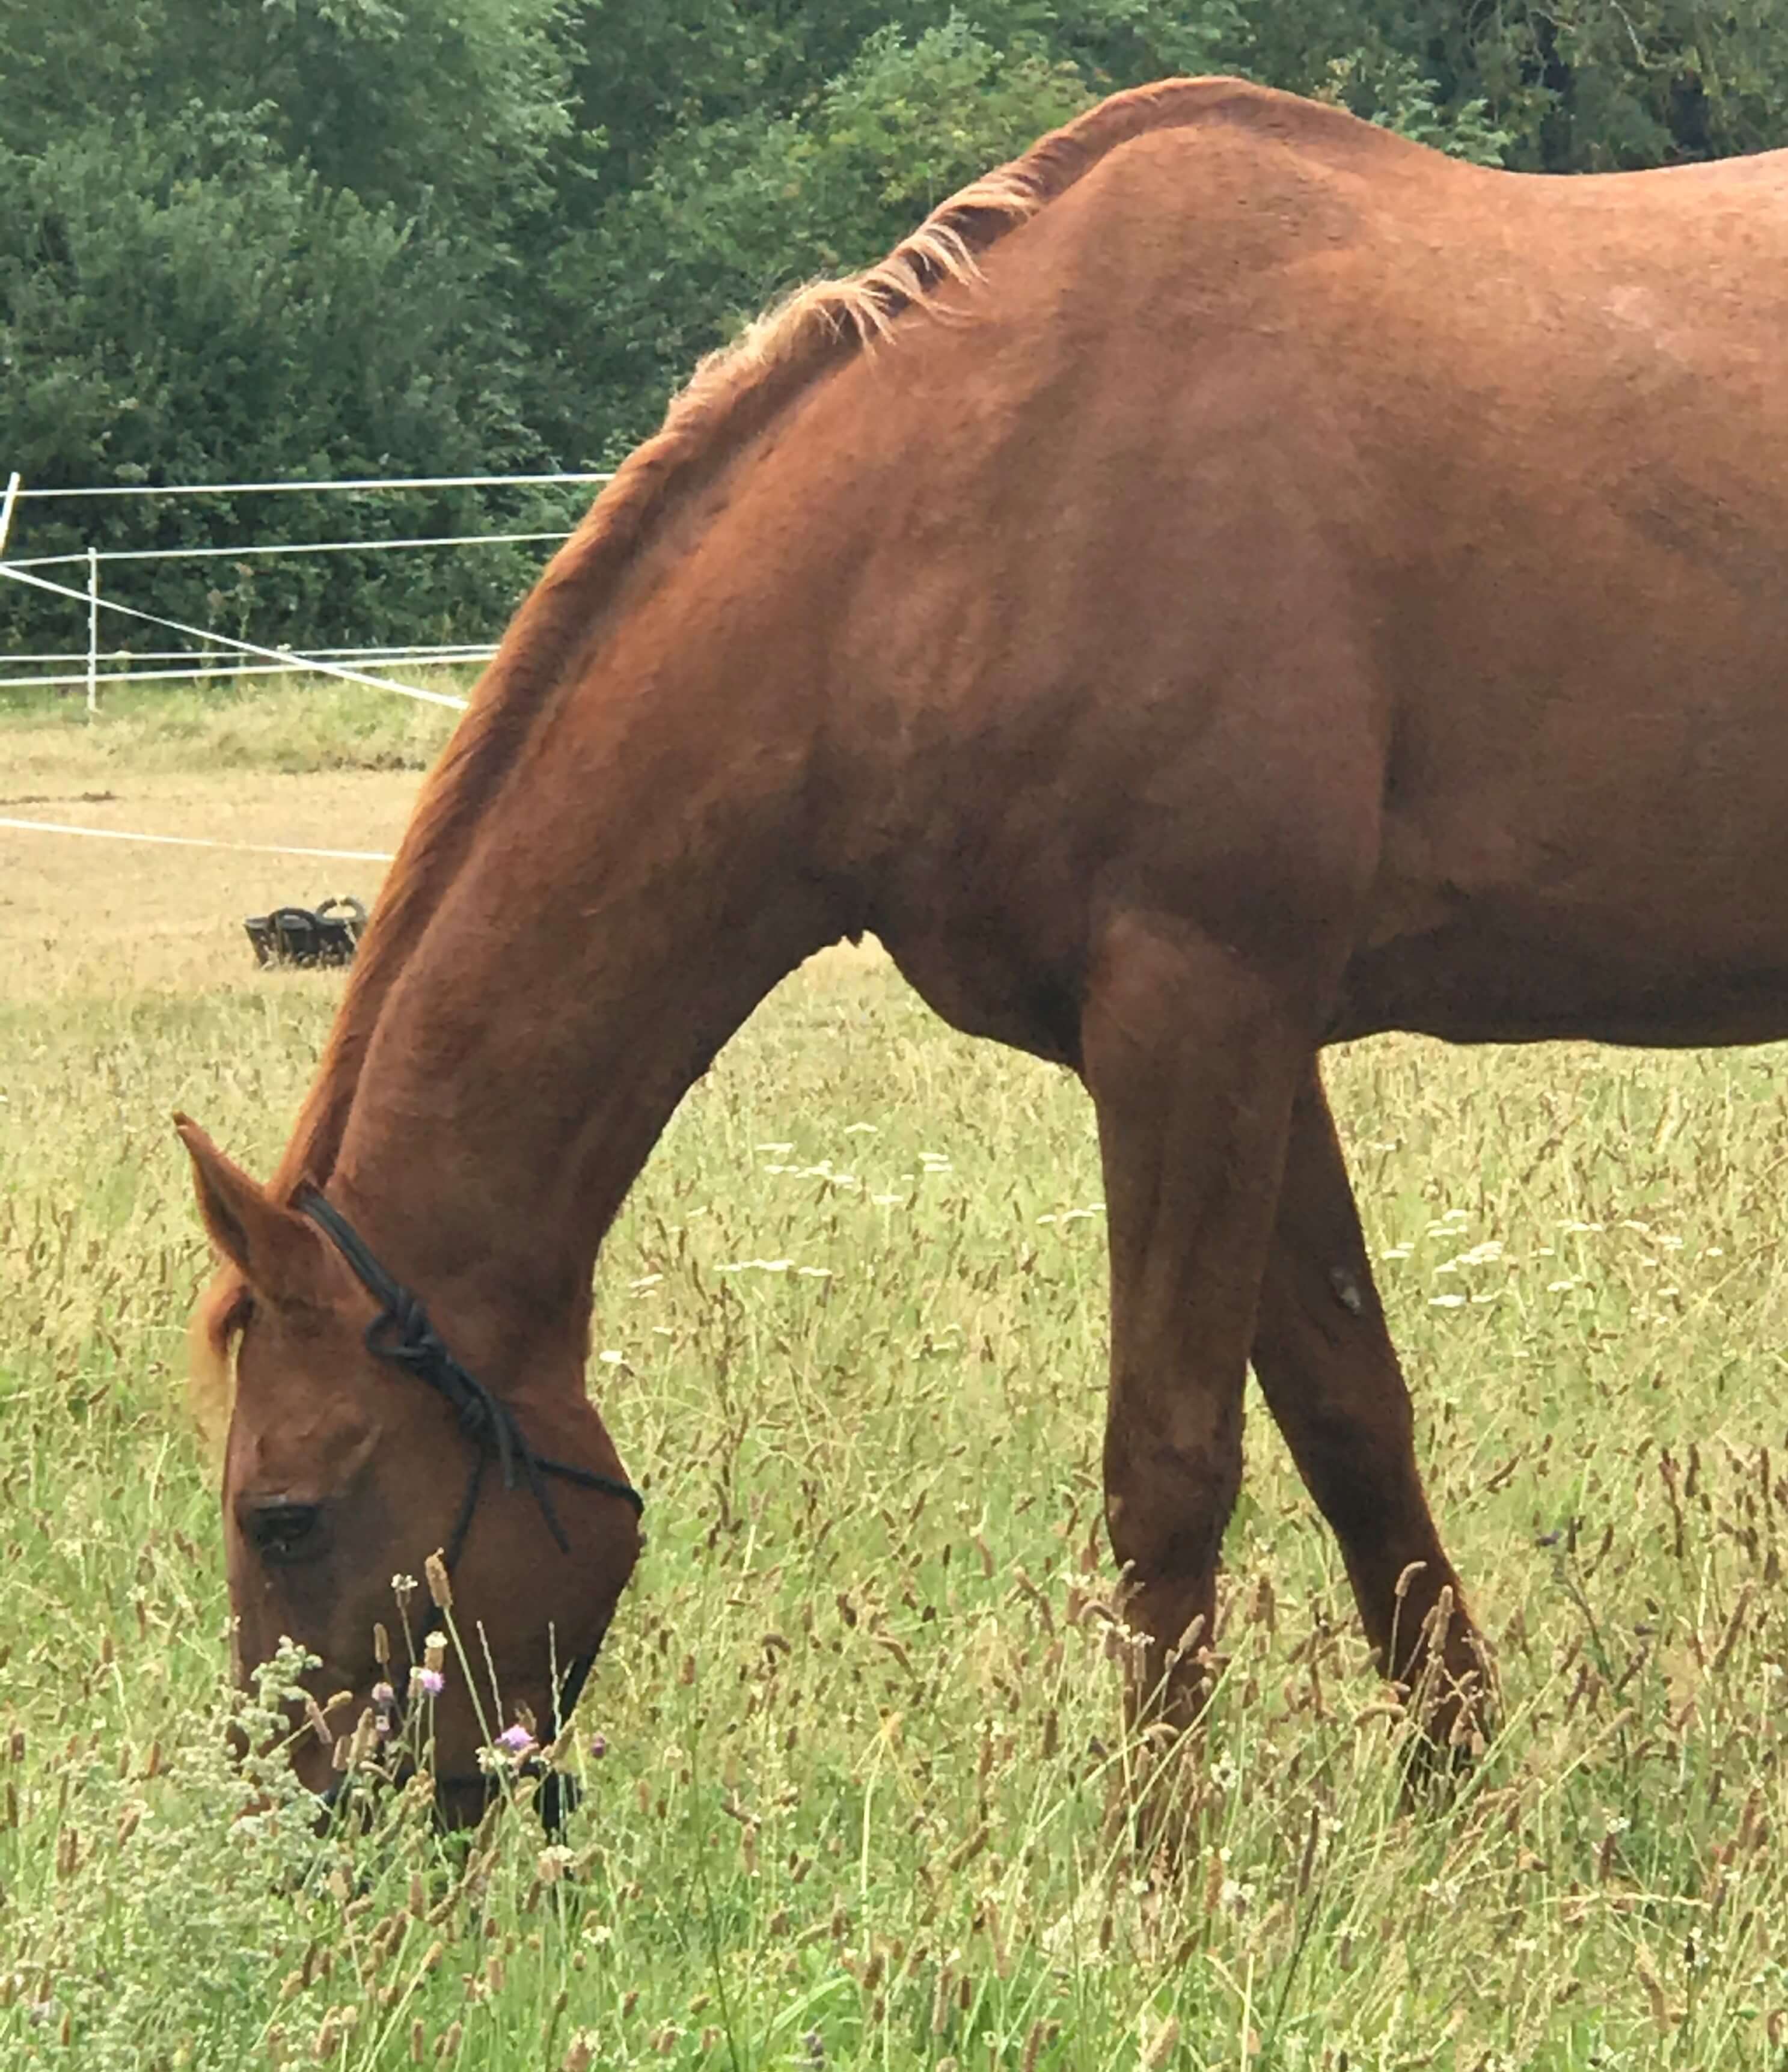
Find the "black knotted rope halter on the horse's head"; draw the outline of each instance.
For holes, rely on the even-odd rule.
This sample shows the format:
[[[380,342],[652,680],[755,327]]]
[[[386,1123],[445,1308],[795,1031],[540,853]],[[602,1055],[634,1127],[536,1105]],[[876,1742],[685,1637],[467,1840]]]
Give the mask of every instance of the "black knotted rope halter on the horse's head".
[[[646,1500],[630,1481],[619,1481],[615,1475],[599,1475],[590,1467],[578,1467],[574,1461],[553,1461],[539,1452],[530,1444],[526,1432],[522,1432],[510,1405],[499,1397],[493,1397],[477,1374],[462,1368],[460,1361],[454,1359],[448,1347],[435,1336],[435,1326],[429,1322],[429,1312],[423,1303],[402,1285],[402,1280],[396,1280],[385,1272],[354,1225],[348,1222],[348,1218],[331,1202],[325,1202],[315,1187],[307,1185],[298,1189],[294,1206],[323,1231],[323,1235],[348,1262],[361,1287],[365,1287],[373,1301],[379,1303],[379,1314],[367,1326],[367,1351],[377,1359],[387,1359],[392,1365],[402,1368],[406,1374],[414,1374],[419,1382],[427,1382],[437,1397],[443,1397],[452,1405],[460,1419],[460,1430],[472,1442],[472,1471],[466,1477],[466,1494],[460,1500],[460,1515],[454,1521],[454,1531],[441,1550],[441,1560],[445,1560],[448,1573],[454,1571],[454,1564],[464,1552],[466,1533],[470,1533],[472,1515],[479,1508],[479,1492],[485,1486],[485,1467],[493,1457],[503,1471],[506,1490],[514,1490],[518,1484],[526,1481],[535,1502],[541,1506],[541,1517],[547,1521],[547,1531],[553,1535],[561,1554],[570,1554],[572,1544],[566,1537],[564,1525],[559,1525],[557,1510],[553,1508],[553,1496],[547,1488],[549,1475],[555,1475],[559,1481],[576,1484],[580,1490],[599,1490],[603,1496],[617,1496],[624,1504],[632,1504],[634,1517],[644,1513]],[[439,1610],[435,1610],[429,1618],[429,1627],[433,1627],[439,1616]],[[553,1740],[557,1734],[561,1716],[570,1718],[595,1658],[595,1649],[590,1649],[590,1653],[572,1662],[564,1680],[564,1693],[553,1695],[553,1720],[547,1740]],[[454,1784],[462,1780],[441,1778],[441,1782]],[[551,1778],[547,1784],[551,1784]],[[553,1801],[551,1807],[543,1801],[543,1817],[549,1828],[555,1828],[561,1817],[555,1807],[557,1801]]]

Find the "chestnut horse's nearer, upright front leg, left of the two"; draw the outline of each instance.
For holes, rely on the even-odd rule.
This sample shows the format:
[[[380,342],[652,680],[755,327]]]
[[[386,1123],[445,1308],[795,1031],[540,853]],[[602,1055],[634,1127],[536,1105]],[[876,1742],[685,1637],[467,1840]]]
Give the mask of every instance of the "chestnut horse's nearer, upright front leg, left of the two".
[[[1216,1560],[1287,1129],[1314,1057],[1282,982],[1179,922],[1117,922],[1082,1017],[1111,1227],[1106,1521],[1144,1637],[1137,1724],[1206,1687]]]

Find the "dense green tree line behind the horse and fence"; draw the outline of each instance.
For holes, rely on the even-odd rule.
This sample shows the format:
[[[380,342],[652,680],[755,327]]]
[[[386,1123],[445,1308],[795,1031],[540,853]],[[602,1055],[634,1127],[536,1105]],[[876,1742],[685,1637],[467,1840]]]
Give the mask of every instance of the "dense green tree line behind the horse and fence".
[[[613,462],[762,303],[1177,70],[1525,170],[1788,137],[1769,0],[15,0],[0,466],[54,487]],[[574,501],[381,501],[367,530],[545,530]],[[153,503],[97,535],[91,510],[27,506],[12,545],[172,543]],[[178,524],[329,528],[298,497]],[[535,566],[425,562],[162,570],[155,597],[265,640],[441,638],[491,630]],[[0,599],[12,632],[50,617]]]

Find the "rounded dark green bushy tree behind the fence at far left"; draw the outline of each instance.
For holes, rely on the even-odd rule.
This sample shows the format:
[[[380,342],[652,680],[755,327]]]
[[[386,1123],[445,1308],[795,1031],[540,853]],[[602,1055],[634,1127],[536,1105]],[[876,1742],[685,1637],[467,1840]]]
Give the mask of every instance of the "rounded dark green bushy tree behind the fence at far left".
[[[35,489],[89,481],[452,474],[532,462],[508,317],[460,247],[390,207],[284,164],[236,118],[191,110],[87,126],[35,160],[0,160],[0,423]],[[365,530],[477,530],[466,495],[369,506]],[[559,506],[561,512],[564,506]],[[120,501],[23,508],[12,551],[327,539],[340,508],[282,497],[236,508]],[[539,520],[537,520],[539,522]],[[176,530],[178,528],[178,530]],[[195,541],[197,533],[197,541]],[[249,628],[273,644],[439,636],[501,624],[522,566],[489,557],[329,555],[162,568],[153,609]],[[131,599],[147,584],[122,570]],[[143,595],[147,603],[147,595]],[[10,628],[66,613],[6,586]],[[108,642],[164,644],[108,632]]]

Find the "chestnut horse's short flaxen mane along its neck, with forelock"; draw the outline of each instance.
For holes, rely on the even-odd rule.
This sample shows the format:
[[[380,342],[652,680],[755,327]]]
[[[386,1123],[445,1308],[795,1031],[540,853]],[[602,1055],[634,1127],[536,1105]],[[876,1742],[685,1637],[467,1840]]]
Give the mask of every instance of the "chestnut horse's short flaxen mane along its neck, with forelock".
[[[1117,93],[1052,131],[1023,157],[951,195],[878,265],[800,288],[736,344],[700,363],[671,402],[663,429],[628,456],[553,555],[429,775],[379,895],[377,926],[354,961],[317,1080],[273,1175],[276,1198],[288,1198],[302,1179],[321,1183],[327,1177],[392,980],[464,860],[481,808],[557,688],[566,655],[588,632],[667,506],[709,479],[791,396],[889,338],[901,315],[934,305],[951,284],[972,284],[980,274],[978,253],[1030,222],[1119,145],[1200,118],[1264,120],[1268,126],[1332,120],[1326,110],[1235,79],[1173,79]],[[230,1345],[242,1299],[240,1276],[224,1270],[189,1326],[193,1409],[211,1434],[222,1432],[228,1415]]]

